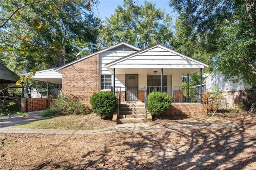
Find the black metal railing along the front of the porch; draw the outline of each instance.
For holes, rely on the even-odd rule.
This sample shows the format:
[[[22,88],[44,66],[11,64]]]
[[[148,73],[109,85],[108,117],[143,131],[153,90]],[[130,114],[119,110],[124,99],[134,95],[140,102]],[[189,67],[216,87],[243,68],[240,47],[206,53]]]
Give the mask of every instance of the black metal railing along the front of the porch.
[[[144,88],[147,93],[152,91],[162,91],[161,86],[147,86]],[[163,92],[166,92],[172,97],[173,103],[200,103],[201,93],[205,92],[205,88],[200,90],[200,87],[176,87],[176,86],[164,86]]]

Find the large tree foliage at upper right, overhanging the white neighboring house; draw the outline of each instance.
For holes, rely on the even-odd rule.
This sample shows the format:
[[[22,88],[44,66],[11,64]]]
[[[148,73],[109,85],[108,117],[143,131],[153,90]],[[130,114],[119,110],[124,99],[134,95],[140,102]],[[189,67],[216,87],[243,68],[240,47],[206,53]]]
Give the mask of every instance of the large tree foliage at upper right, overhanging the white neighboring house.
[[[227,79],[256,85],[255,1],[171,0],[170,6],[180,14],[176,40],[181,51],[218,66]]]

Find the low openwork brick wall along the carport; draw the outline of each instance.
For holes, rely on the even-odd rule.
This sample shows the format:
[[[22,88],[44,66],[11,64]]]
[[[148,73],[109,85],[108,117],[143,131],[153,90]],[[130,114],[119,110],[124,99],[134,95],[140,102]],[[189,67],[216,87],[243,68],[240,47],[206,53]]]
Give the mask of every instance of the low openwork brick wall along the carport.
[[[48,99],[48,106],[52,102],[52,98]],[[47,98],[28,98],[28,112],[40,111],[47,109]],[[21,112],[26,112],[26,99],[21,99]]]

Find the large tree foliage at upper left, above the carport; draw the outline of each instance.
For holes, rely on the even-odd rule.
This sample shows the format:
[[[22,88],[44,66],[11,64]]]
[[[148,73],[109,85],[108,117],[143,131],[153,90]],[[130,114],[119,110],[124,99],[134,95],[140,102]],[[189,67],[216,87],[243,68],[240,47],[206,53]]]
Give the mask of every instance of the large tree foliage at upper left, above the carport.
[[[98,22],[87,0],[13,0],[0,4],[1,63],[16,73],[47,69],[94,50]],[[93,1],[94,2],[94,1]],[[72,50],[73,49],[73,50]]]

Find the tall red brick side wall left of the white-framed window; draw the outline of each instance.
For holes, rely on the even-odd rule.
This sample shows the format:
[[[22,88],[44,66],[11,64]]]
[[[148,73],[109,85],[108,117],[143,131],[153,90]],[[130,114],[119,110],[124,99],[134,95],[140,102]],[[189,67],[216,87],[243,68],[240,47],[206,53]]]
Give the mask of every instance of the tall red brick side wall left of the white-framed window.
[[[83,104],[90,105],[90,97],[99,91],[99,55],[62,69],[62,93],[72,93]]]

